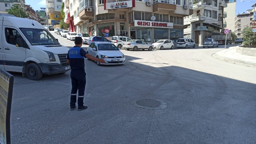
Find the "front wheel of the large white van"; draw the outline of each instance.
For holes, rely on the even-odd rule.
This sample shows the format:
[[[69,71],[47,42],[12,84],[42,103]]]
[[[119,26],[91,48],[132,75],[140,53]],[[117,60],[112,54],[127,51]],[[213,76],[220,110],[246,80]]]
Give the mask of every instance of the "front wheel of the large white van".
[[[43,76],[40,67],[35,63],[28,64],[25,71],[30,80],[39,80]]]

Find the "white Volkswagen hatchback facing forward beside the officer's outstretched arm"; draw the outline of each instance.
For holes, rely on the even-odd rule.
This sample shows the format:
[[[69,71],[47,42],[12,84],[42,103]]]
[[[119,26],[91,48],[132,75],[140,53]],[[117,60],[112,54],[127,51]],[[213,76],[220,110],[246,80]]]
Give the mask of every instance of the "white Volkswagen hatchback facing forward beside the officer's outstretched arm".
[[[88,46],[87,53],[96,58],[104,58],[105,65],[125,63],[124,54],[110,42],[91,42]],[[87,58],[87,60],[90,59]],[[97,65],[100,66],[102,63],[97,62]]]

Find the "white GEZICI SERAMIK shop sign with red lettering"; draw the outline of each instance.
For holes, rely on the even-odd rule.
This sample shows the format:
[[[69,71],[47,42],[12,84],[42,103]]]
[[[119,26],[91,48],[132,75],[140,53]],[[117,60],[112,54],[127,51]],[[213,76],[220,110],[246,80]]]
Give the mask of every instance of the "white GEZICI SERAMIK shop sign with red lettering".
[[[172,22],[152,22],[146,20],[134,20],[134,26],[151,28],[173,28]]]

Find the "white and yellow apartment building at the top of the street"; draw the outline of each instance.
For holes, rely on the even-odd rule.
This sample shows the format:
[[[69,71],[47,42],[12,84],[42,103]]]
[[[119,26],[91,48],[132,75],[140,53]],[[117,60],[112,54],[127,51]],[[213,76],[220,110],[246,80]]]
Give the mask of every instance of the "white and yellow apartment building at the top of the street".
[[[49,15],[48,24],[56,25],[62,20],[60,14],[62,0],[46,0],[46,15]]]

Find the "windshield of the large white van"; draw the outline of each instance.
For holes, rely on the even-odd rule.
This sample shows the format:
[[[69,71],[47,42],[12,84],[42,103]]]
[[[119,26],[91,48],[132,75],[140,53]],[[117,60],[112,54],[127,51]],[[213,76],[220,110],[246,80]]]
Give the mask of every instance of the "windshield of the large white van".
[[[48,30],[36,28],[20,28],[31,45],[58,45],[60,44]]]

